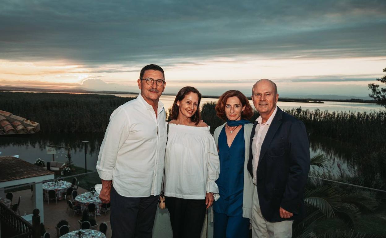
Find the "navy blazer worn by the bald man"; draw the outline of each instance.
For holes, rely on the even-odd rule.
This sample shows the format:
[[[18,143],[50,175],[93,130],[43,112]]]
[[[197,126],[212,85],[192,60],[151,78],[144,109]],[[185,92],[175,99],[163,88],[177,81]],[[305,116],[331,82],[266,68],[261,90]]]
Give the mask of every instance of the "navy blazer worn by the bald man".
[[[252,138],[247,169],[252,175]],[[294,220],[305,213],[303,192],[310,170],[310,149],[306,128],[300,120],[276,111],[261,145],[256,171],[257,194],[261,213],[269,222]],[[279,208],[293,213],[281,218]]]

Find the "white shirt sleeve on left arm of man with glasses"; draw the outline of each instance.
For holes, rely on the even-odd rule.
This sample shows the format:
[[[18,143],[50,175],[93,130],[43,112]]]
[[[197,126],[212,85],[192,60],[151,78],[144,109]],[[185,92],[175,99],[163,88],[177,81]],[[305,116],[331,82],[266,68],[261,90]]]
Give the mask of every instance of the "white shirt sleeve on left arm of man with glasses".
[[[98,155],[97,171],[103,180],[113,178],[118,151],[129,136],[129,124],[129,118],[124,110],[117,108],[113,111]]]

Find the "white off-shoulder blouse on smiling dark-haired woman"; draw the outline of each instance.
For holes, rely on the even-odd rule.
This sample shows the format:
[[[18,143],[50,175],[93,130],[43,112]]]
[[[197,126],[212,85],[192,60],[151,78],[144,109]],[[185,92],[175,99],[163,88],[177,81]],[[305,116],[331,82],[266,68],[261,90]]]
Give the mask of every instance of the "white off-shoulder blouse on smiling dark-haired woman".
[[[209,128],[169,123],[166,196],[205,199],[206,192],[212,192],[216,200],[220,197],[215,183],[220,174],[220,160]]]

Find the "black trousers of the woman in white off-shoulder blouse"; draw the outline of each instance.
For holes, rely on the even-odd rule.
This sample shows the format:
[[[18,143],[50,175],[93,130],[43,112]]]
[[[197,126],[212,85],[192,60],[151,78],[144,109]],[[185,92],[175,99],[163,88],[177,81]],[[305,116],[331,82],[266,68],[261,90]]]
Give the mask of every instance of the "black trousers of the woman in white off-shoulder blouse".
[[[173,238],[200,238],[207,211],[205,199],[165,197]]]

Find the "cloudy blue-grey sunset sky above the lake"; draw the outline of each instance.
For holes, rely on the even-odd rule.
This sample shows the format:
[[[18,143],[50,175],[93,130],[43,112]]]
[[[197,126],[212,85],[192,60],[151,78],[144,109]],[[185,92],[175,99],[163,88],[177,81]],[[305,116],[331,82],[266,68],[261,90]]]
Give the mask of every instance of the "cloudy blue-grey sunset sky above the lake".
[[[135,91],[146,64],[166,92],[367,96],[386,68],[386,2],[2,0],[0,85]]]

